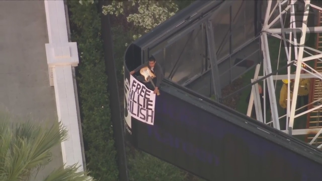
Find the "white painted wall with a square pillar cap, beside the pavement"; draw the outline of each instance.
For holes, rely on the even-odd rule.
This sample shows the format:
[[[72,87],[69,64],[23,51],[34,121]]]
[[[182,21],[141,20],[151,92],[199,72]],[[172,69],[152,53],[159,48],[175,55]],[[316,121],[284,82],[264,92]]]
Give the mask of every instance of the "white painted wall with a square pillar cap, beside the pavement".
[[[45,44],[50,85],[54,86],[59,121],[68,130],[62,142],[62,157],[66,166],[78,164],[83,171],[80,131],[77,118],[72,67],[79,63],[76,42],[68,42],[64,1],[45,0],[49,43]],[[51,73],[52,72],[52,73]]]

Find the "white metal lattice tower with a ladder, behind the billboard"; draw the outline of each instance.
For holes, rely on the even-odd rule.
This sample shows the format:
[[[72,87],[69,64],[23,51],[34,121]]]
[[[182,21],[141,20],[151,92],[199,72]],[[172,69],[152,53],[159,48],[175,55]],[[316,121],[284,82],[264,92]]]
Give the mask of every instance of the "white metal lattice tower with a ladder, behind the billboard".
[[[273,74],[272,72],[272,62],[270,59],[270,44],[268,41],[268,37],[275,37],[281,41],[282,46],[280,46],[280,53],[284,53],[287,57],[287,63],[290,66],[296,67],[296,71],[291,72],[290,66],[287,68],[287,74],[285,75],[277,75],[274,73],[273,75],[264,79],[264,88],[267,86],[270,108],[271,108],[271,120],[266,120],[266,111],[264,111],[264,115],[262,115],[261,106],[259,101],[259,90],[258,86],[253,85],[251,90],[251,99],[248,107],[247,115],[250,116],[253,104],[255,104],[256,109],[256,117],[257,120],[266,123],[273,124],[275,129],[280,129],[280,120],[285,119],[286,117],[286,129],[281,130],[288,134],[292,135],[307,135],[307,142],[309,144],[313,144],[314,142],[318,142],[317,139],[319,135],[322,133],[322,124],[319,124],[319,111],[322,108],[322,104],[319,102],[322,100],[322,92],[320,92],[320,88],[322,90],[321,80],[322,80],[322,26],[320,26],[321,21],[321,12],[322,8],[311,4],[309,0],[305,1],[296,1],[296,0],[278,0],[278,1],[267,1],[267,9],[265,12],[265,19],[263,22],[263,28],[261,33],[261,49],[263,53],[263,63],[258,64],[255,70],[254,78],[251,80],[252,82],[263,78],[265,75]],[[313,2],[314,3],[314,2]],[[301,5],[302,9],[297,8],[296,6]],[[315,17],[317,17],[317,24],[314,27],[308,27],[308,16],[309,10],[314,10]],[[314,14],[313,14],[314,15]],[[285,17],[285,18],[284,18]],[[300,17],[300,18],[299,18]],[[285,26],[285,19],[289,19],[289,24]],[[301,19],[302,18],[302,19]],[[301,19],[301,20],[299,20]],[[296,21],[297,20],[297,21]],[[300,22],[300,23],[298,23]],[[280,24],[280,28],[274,28],[276,24]],[[301,26],[299,26],[301,24]],[[298,27],[297,27],[298,26]],[[297,33],[296,33],[297,32]],[[299,33],[301,36],[299,36]],[[286,38],[286,35],[288,36]],[[314,48],[305,46],[306,37],[308,35],[316,36],[316,46]],[[293,45],[293,46],[292,46]],[[320,48],[321,47],[321,48]],[[292,58],[294,57],[294,58]],[[293,59],[293,60],[292,60]],[[282,60],[285,61],[285,60]],[[308,62],[315,61],[314,66],[309,66]],[[307,69],[302,68],[302,64],[306,65]],[[259,76],[260,69],[263,69],[263,75]],[[301,70],[304,70],[305,73],[301,73]],[[296,114],[296,103],[298,98],[298,87],[299,81],[303,78],[310,78],[310,100],[308,106],[308,110],[302,113]],[[287,98],[287,114],[279,115],[278,113],[278,100],[276,99],[276,92],[279,90],[275,90],[274,81],[281,81],[283,79],[288,79],[290,82],[293,80],[294,89],[291,90],[290,85],[288,84],[288,98]],[[290,97],[290,93],[293,92],[292,97]],[[264,93],[264,96],[266,94]],[[265,102],[264,98],[264,102]],[[292,100],[292,101],[290,101]],[[265,103],[264,103],[265,106]],[[300,108],[298,108],[300,109]],[[321,109],[322,111],[322,109]],[[314,116],[311,114],[315,113]],[[293,129],[294,122],[296,121],[304,121],[296,119],[299,116],[308,114],[307,118],[307,128],[306,129]],[[310,116],[311,115],[311,116]],[[312,118],[315,120],[312,121]],[[322,122],[322,121],[321,121]],[[312,126],[312,123],[316,123],[316,126]],[[315,136],[309,137],[308,135],[314,134]],[[321,137],[322,138],[322,137]],[[321,142],[322,143],[322,142]],[[322,144],[318,142],[317,147],[321,148]]]

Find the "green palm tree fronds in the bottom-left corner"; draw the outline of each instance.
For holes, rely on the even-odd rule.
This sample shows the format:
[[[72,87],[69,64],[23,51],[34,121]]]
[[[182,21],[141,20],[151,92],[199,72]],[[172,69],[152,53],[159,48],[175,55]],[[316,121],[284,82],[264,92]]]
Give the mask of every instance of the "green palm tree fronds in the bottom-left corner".
[[[28,181],[32,174],[52,160],[51,150],[67,139],[62,123],[53,121],[49,129],[33,124],[30,120],[15,122],[8,114],[0,115],[0,180]],[[80,166],[62,165],[43,181],[90,181],[90,176],[77,172]]]

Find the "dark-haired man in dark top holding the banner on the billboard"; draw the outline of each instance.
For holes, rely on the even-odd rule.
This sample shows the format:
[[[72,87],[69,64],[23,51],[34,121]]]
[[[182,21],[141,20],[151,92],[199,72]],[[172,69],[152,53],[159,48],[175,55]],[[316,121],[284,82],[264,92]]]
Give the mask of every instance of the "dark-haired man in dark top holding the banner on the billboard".
[[[146,81],[143,75],[136,77],[136,79],[140,82],[143,82],[148,89],[153,90],[153,92],[156,94],[158,92],[160,83],[164,78],[164,74],[160,64],[156,62],[156,59],[153,56],[149,58],[148,62],[138,66],[134,71],[130,71],[130,74],[133,75],[135,72],[140,71],[142,68],[145,67],[147,67],[150,73],[154,75],[151,76],[152,82]]]

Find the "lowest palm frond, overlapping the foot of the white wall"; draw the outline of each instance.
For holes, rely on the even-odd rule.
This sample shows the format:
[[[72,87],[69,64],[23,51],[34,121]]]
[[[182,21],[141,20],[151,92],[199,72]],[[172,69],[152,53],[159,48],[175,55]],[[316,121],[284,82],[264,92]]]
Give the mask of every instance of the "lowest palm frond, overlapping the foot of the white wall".
[[[47,176],[44,181],[95,181],[91,176],[88,176],[87,173],[77,172],[77,164],[68,166],[59,167],[54,170],[49,176]]]

